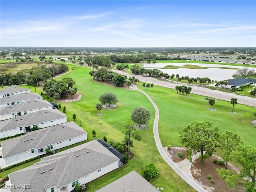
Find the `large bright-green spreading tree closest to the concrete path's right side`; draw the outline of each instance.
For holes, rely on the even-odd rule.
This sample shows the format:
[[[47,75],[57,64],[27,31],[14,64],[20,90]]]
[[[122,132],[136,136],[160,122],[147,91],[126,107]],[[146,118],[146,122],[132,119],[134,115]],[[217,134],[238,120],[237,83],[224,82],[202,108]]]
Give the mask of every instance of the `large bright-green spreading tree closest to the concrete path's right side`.
[[[188,148],[186,158],[190,162],[192,162],[192,155],[197,152],[200,152],[200,163],[204,163],[204,159],[209,158],[216,151],[219,127],[210,128],[212,128],[210,121],[195,121],[179,131],[180,142]]]

